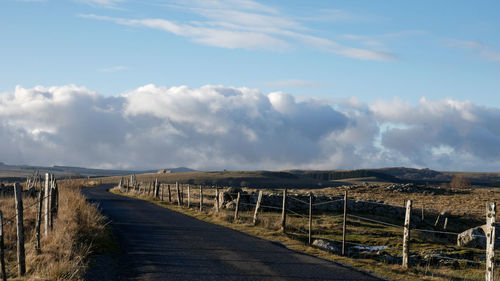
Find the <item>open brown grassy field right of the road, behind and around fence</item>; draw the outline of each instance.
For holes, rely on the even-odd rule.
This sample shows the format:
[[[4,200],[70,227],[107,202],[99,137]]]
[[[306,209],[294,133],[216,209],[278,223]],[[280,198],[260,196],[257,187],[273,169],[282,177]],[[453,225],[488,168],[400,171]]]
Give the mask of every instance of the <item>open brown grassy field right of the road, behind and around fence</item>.
[[[163,182],[165,184],[172,184],[175,181],[179,181],[188,182],[192,185],[197,180],[201,182],[204,179],[202,176],[206,176],[206,174],[194,175],[199,177],[189,179],[189,174],[162,175],[158,177],[158,180],[159,182],[163,182],[163,179],[168,179],[168,181]],[[156,176],[153,174],[137,175],[137,181],[147,183],[149,180],[152,181],[155,179]],[[248,178],[247,176],[246,179]],[[116,178],[103,180],[116,180]],[[220,178],[216,180],[220,180]],[[373,182],[373,180],[377,181],[373,178],[356,178],[352,183]],[[343,180],[343,183],[345,184],[346,181]],[[313,192],[315,197],[329,196],[332,199],[342,198],[339,195],[342,195],[347,190],[351,200],[366,202],[375,200],[379,203],[390,204],[396,208],[402,206],[405,200],[413,200],[414,212],[417,214],[420,214],[421,208],[424,206],[425,219],[413,226],[415,230],[412,231],[410,240],[411,268],[404,270],[400,267],[403,233],[403,220],[400,217],[369,213],[363,210],[350,211],[347,223],[347,241],[349,245],[348,249],[351,250],[348,251],[348,257],[342,257],[338,252],[329,253],[308,245],[307,211],[298,209],[290,210],[287,218],[287,231],[286,234],[282,234],[280,231],[281,211],[279,208],[263,206],[262,212],[259,214],[259,223],[257,226],[253,226],[254,205],[247,208],[242,206],[238,219],[234,220],[234,210],[232,208],[221,208],[219,213],[214,211],[215,190],[205,187],[204,211],[199,212],[196,211],[199,208],[200,198],[198,186],[191,188],[191,206],[189,209],[186,208],[186,188],[181,189],[183,190],[184,204],[180,207],[176,206],[178,204],[177,194],[173,186],[172,184],[170,194],[172,203],[168,203],[165,189],[163,189],[162,193],[163,201],[161,199],[152,199],[152,193],[148,192],[147,184],[140,190],[131,190],[127,195],[151,200],[162,206],[203,220],[229,226],[266,239],[279,241],[293,249],[340,261],[358,268],[364,268],[397,280],[484,280],[484,250],[455,246],[456,235],[454,233],[484,224],[486,202],[498,201],[500,199],[500,193],[495,188],[448,188],[431,185],[427,187],[413,187],[409,190],[399,190],[394,187],[394,184],[384,181],[377,181],[377,184],[343,185],[341,187],[328,188],[316,187],[312,189],[290,188],[288,190],[289,194],[302,194],[306,196],[309,192]],[[246,192],[247,196],[255,198],[258,190],[260,189],[243,188],[242,192]],[[262,190],[265,194],[281,193],[281,189]],[[118,191],[115,190],[115,192]],[[460,207],[457,208],[457,206]],[[446,230],[443,229],[444,217],[441,217],[439,223],[434,225],[438,216],[444,213],[447,213]],[[342,219],[339,217],[341,215],[342,213],[338,211],[315,211],[312,216],[313,240],[325,239],[338,247],[339,244],[335,241],[342,240]],[[422,232],[418,229],[425,231]],[[430,231],[430,233],[426,231]],[[448,233],[440,234],[434,231],[445,231]],[[384,246],[384,249],[362,251],[354,250],[355,246]],[[497,258],[498,262],[500,262],[500,259]]]

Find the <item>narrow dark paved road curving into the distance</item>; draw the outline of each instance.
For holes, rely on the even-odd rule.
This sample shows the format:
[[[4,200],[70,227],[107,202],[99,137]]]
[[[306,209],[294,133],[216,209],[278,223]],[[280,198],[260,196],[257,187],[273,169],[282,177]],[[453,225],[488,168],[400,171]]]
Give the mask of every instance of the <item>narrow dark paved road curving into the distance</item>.
[[[83,190],[123,249],[118,280],[380,280],[152,203]]]

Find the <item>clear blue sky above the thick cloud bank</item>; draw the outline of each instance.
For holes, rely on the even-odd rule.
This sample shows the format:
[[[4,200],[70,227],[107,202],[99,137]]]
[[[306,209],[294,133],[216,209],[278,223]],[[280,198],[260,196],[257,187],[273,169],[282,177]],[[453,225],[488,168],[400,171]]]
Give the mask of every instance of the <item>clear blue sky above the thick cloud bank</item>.
[[[3,1],[0,91],[73,83],[113,95],[148,83],[213,84],[367,102],[426,96],[500,105],[496,1],[247,2]],[[283,44],[248,39],[220,47],[199,35],[116,22],[148,19],[219,33],[246,28]],[[271,28],[276,33],[265,32]],[[339,54],[298,36],[373,54]]]

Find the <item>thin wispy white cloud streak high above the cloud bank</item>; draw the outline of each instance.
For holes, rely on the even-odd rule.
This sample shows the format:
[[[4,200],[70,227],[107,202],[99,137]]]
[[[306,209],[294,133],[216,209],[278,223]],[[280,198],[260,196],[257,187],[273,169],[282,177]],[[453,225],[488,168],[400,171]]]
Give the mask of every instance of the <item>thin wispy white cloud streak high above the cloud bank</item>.
[[[172,4],[167,5],[172,7]],[[286,50],[307,45],[325,52],[360,60],[394,60],[391,52],[357,48],[328,38],[312,35],[312,31],[297,18],[279,12],[276,8],[255,1],[182,1],[177,9],[201,16],[205,20],[175,22],[163,18],[123,18],[101,15],[80,17],[111,21],[116,24],[148,27],[166,31],[193,42],[229,48]]]

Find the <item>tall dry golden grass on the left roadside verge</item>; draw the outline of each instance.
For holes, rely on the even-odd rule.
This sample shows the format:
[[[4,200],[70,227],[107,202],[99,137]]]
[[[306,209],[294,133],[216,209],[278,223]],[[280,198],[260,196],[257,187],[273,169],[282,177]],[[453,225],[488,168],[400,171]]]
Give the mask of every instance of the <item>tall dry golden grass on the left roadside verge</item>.
[[[79,191],[79,185],[70,181],[59,185],[59,213],[54,229],[43,236],[42,253],[35,252],[36,199],[24,199],[24,227],[26,247],[26,277],[20,280],[83,280],[89,255],[96,242],[110,239],[104,217],[89,205]],[[0,199],[6,219],[15,215],[14,199]],[[6,263],[8,278],[17,278],[16,227],[5,226]]]

